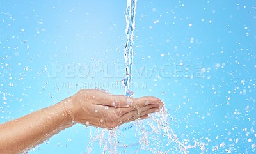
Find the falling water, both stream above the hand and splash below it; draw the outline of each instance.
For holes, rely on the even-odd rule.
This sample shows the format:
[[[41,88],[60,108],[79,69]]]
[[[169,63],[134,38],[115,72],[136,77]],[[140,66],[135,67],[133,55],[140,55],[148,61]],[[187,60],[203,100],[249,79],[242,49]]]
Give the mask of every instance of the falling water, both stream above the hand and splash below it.
[[[124,58],[126,64],[126,76],[122,80],[122,84],[125,87],[125,96],[132,96],[133,92],[129,90],[129,84],[132,81],[132,62],[133,62],[133,48],[134,43],[134,28],[135,28],[135,13],[136,13],[136,0],[127,0],[127,8],[125,10],[125,19],[127,26],[125,29],[127,35],[127,43],[124,49]],[[150,153],[188,153],[191,148],[199,147],[201,153],[204,153],[204,143],[200,141],[193,141],[193,145],[189,144],[188,141],[185,143],[181,142],[177,135],[170,128],[170,122],[172,122],[172,116],[168,114],[166,109],[162,109],[157,114],[150,115],[149,120],[142,122],[136,120],[132,123],[116,127],[113,130],[102,130],[100,133],[96,132],[94,135],[90,130],[90,143],[88,144],[88,153],[92,152],[94,142],[98,142],[102,148],[102,153],[119,153],[119,150],[127,152],[129,148],[138,147],[137,153],[140,150],[150,151]],[[135,129],[134,139],[138,141],[132,142],[121,142],[124,138],[126,131]],[[134,148],[132,148],[134,149]],[[167,151],[161,151],[161,149],[167,149]]]

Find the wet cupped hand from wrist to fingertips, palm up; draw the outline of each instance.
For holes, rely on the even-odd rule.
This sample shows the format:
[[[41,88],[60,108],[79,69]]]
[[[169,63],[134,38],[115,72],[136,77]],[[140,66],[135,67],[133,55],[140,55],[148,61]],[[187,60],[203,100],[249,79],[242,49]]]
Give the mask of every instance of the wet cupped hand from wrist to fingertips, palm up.
[[[108,129],[145,119],[148,114],[159,112],[164,105],[156,97],[131,98],[97,89],[81,89],[66,103],[75,123]]]

